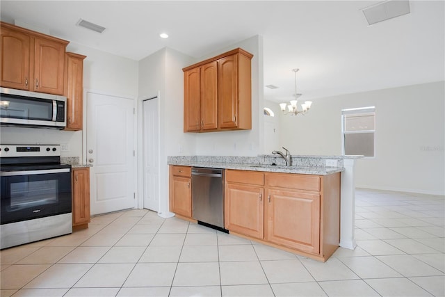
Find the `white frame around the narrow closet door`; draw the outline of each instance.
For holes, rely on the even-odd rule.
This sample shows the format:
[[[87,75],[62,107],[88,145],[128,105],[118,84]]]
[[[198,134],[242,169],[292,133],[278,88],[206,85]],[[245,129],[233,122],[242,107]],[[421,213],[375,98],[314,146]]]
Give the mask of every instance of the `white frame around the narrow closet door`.
[[[138,181],[138,191],[136,193],[136,197],[138,200],[138,209],[144,208],[144,141],[143,141],[143,102],[145,100],[158,98],[158,127],[159,127],[159,134],[158,134],[158,152],[161,152],[161,91],[157,91],[155,95],[145,95],[143,97],[138,98],[137,100],[137,107],[136,107],[136,115],[138,118],[138,130],[137,130],[137,140],[138,140],[138,147],[136,150],[136,159],[138,160],[138,175],[137,175],[137,181]],[[161,193],[161,154],[158,154],[158,188],[159,193]],[[159,197],[159,203],[161,203],[161,198]],[[159,205],[159,210],[161,209],[161,205]],[[158,210],[158,211],[159,211]]]

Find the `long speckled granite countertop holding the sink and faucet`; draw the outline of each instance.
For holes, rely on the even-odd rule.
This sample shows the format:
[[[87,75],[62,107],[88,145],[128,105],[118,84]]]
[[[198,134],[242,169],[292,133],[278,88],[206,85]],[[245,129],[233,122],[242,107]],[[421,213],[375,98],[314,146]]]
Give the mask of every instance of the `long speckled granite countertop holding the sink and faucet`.
[[[309,161],[309,163],[305,162],[304,164],[301,164],[300,162],[298,162],[298,160],[296,160],[297,158],[298,157],[295,157],[294,161],[294,156],[293,156],[293,163],[295,163],[296,166],[285,166],[284,163],[283,164],[280,163],[280,159],[275,159],[275,156],[268,156],[268,155],[259,157],[169,156],[168,164],[178,165],[178,166],[207,167],[207,168],[221,168],[221,169],[234,169],[234,170],[297,173],[304,175],[330,175],[332,173],[344,171],[342,162],[338,162],[339,166],[337,167],[326,167],[321,165],[322,162],[319,161],[320,156],[310,156],[310,157],[305,156],[306,159],[314,159],[313,161],[316,161],[316,163],[311,163]],[[337,158],[339,158],[339,156],[337,156]],[[336,158],[332,156],[331,159],[336,159]],[[270,164],[277,164],[277,165],[270,165]]]

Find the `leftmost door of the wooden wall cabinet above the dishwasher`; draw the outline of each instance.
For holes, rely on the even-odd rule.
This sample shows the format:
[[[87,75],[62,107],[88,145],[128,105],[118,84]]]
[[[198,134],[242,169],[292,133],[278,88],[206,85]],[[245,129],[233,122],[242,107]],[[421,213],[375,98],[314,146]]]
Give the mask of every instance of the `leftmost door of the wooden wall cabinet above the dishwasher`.
[[[200,67],[184,72],[184,132],[200,130]]]

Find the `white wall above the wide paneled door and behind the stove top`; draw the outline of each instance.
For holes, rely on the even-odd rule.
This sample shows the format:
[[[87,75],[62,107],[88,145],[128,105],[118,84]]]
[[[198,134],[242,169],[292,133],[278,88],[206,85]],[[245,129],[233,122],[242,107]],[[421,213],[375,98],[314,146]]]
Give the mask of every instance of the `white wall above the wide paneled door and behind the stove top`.
[[[67,51],[87,56],[83,63],[83,88],[136,97],[138,94],[138,63],[70,42]],[[85,99],[85,98],[84,98]],[[1,127],[0,143],[67,144],[62,156],[82,159],[83,131],[58,131],[22,127]]]

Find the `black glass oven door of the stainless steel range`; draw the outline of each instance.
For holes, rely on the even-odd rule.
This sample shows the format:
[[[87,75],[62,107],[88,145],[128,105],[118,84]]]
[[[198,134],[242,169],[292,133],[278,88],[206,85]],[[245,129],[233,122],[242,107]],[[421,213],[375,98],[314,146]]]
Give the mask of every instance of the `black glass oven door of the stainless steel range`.
[[[1,172],[1,225],[72,212],[71,169]]]

